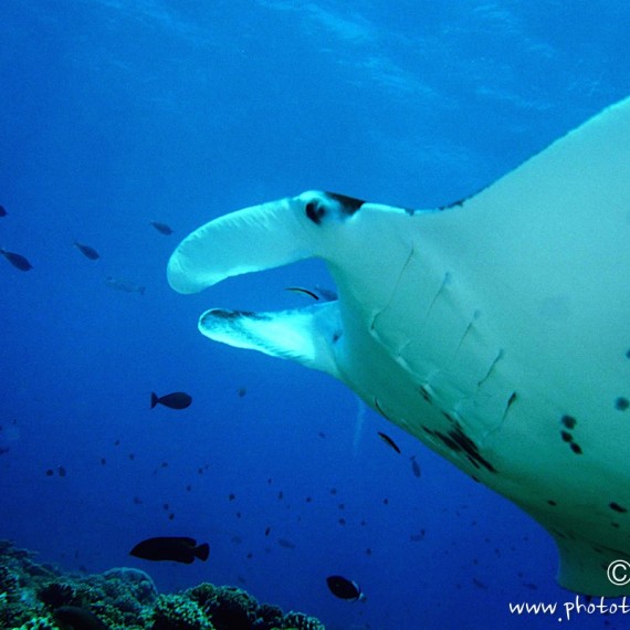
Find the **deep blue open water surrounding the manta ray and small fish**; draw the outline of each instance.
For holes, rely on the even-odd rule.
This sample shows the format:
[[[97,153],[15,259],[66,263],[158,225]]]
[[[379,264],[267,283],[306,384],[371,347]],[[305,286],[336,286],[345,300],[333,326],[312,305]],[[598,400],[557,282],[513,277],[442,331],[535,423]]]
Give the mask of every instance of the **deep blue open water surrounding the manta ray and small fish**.
[[[575,600],[533,521],[330,378],[197,333],[209,306],[306,304],[284,287],[325,284],[319,265],[187,297],[165,267],[201,223],[304,189],[423,208],[482,188],[628,95],[629,32],[619,0],[0,2],[0,246],[34,267],[0,259],[0,537],[332,630],[557,626],[507,610]],[[177,390],[189,409],[149,409]],[[210,559],[128,556],[156,535]],[[629,616],[569,623],[608,624]]]

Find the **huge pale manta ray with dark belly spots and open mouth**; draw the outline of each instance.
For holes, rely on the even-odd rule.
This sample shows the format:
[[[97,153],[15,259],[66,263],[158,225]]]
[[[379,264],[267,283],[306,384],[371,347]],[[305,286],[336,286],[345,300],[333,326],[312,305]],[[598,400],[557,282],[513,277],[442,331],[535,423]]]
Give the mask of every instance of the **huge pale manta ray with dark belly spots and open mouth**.
[[[337,300],[200,332],[342,380],[545,527],[563,587],[630,595],[630,98],[450,206],[307,191],[225,214],[168,282],[308,258]]]

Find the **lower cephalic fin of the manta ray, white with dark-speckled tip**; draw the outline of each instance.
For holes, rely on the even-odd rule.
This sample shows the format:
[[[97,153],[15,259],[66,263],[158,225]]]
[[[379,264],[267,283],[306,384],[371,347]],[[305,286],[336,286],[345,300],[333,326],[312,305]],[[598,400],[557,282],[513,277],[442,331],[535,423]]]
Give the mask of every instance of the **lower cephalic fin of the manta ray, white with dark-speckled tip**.
[[[336,302],[280,313],[213,308],[199,318],[199,330],[214,342],[292,359],[339,378],[334,356],[342,337]]]

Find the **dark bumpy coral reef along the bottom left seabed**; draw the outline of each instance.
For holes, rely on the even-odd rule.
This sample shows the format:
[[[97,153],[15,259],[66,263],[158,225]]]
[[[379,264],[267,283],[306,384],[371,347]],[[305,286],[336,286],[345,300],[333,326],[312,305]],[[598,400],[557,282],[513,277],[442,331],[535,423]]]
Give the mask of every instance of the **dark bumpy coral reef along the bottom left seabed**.
[[[313,617],[284,615],[232,586],[203,582],[158,595],[151,578],[137,569],[64,574],[33,557],[0,540],[0,628],[61,630],[55,616],[70,608],[109,630],[325,630]]]

